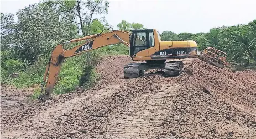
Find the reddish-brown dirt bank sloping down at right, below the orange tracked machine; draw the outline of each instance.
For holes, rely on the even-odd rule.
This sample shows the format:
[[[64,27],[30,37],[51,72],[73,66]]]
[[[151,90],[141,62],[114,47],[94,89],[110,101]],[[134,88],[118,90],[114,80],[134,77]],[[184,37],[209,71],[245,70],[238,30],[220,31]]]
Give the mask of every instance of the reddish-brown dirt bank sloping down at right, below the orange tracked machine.
[[[186,71],[198,88],[207,87],[216,98],[256,116],[256,72],[222,70],[200,60],[187,63]]]

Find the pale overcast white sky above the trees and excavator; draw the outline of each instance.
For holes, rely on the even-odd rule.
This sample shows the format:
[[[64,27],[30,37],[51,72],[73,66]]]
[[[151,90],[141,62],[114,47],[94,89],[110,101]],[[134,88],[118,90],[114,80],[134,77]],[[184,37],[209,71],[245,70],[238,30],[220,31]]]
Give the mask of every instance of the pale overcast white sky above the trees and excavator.
[[[256,19],[256,0],[109,0],[106,19],[116,27],[121,20],[146,28],[207,32],[218,26],[247,24]],[[13,13],[39,0],[1,0],[1,12]],[[114,28],[116,29],[116,28]]]

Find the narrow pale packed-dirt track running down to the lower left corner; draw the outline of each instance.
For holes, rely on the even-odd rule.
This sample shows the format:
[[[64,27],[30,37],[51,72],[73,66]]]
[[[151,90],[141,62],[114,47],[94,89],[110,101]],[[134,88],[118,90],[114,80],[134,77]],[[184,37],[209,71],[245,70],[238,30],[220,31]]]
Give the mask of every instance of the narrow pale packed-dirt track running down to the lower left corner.
[[[34,138],[35,136],[40,136],[42,133],[47,133],[49,131],[48,127],[53,127],[56,125],[56,123],[58,124],[60,117],[72,116],[72,111],[81,109],[82,101],[87,101],[88,103],[93,99],[108,95],[118,87],[118,85],[112,85],[94,92],[90,91],[87,93],[82,93],[82,95],[78,94],[79,92],[77,92],[76,94],[78,96],[70,100],[60,101],[54,105],[48,104],[47,102],[41,104],[41,106],[50,106],[48,109],[41,110],[40,113],[29,117],[27,120],[22,121],[18,125],[2,129],[1,137],[23,138],[25,135],[25,138]]]

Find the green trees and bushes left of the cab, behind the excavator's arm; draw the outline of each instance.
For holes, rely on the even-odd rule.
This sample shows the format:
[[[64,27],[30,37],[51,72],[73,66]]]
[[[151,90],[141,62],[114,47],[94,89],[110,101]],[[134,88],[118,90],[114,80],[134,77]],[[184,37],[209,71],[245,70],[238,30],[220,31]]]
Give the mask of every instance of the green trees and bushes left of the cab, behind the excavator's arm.
[[[105,0],[42,1],[18,10],[17,21],[13,14],[1,13],[1,83],[17,87],[40,84],[57,44],[112,28],[105,19],[108,7]],[[96,14],[100,18],[94,18]],[[66,45],[65,49],[77,45]],[[59,79],[62,85],[57,84],[55,92],[92,85],[97,79],[94,66],[99,58],[95,51],[67,58],[59,75],[65,79]],[[19,76],[11,78],[13,73]]]

